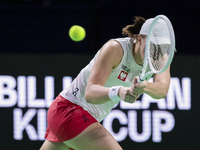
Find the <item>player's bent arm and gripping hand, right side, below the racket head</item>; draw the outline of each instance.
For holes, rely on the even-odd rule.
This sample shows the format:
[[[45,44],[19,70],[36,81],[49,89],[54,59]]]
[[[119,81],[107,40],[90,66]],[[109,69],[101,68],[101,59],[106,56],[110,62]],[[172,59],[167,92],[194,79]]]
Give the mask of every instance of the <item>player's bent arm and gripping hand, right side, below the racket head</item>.
[[[134,93],[146,93],[154,99],[161,99],[167,96],[170,85],[170,67],[163,73],[154,74],[153,83],[144,81],[143,83],[136,83]]]

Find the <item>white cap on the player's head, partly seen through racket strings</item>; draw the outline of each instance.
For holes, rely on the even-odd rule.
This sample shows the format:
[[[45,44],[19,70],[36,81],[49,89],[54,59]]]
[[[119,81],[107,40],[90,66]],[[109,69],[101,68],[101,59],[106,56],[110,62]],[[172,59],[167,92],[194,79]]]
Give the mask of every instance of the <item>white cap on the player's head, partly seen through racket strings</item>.
[[[140,34],[143,34],[143,35],[148,34],[149,28],[153,20],[154,18],[147,19],[145,21],[145,23],[141,27]],[[151,35],[152,36],[150,37],[150,40],[154,44],[171,44],[169,29],[163,19],[159,19],[156,22]]]

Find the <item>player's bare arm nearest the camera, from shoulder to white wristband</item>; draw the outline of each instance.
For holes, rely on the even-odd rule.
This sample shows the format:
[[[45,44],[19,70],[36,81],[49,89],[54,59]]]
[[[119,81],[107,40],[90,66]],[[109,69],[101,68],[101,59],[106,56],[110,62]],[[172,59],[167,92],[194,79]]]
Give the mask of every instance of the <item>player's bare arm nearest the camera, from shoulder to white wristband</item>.
[[[85,90],[87,102],[92,104],[102,104],[111,101],[108,87],[104,87],[112,69],[116,68],[123,57],[123,49],[117,41],[106,43],[91,70],[89,80]]]

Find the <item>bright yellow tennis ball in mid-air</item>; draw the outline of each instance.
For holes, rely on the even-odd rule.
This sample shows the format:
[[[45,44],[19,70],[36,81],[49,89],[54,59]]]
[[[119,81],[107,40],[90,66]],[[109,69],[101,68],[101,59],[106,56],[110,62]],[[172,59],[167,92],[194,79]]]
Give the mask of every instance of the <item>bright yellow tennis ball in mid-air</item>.
[[[73,25],[69,29],[69,36],[73,41],[79,42],[85,38],[85,29],[78,25]]]

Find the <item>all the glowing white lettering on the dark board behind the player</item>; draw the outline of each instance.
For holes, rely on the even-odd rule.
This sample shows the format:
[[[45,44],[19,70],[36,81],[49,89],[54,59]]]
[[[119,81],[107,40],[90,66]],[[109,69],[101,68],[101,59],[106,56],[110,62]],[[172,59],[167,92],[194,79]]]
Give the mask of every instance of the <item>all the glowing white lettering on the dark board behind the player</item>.
[[[62,82],[62,88],[65,89],[72,82],[72,78],[65,76],[62,78]],[[16,107],[36,108],[28,109],[25,113],[22,109],[14,108],[13,137],[15,140],[22,140],[24,132],[27,133],[30,140],[44,140],[47,126],[47,110],[44,108],[48,108],[55,98],[53,76],[44,78],[44,99],[37,99],[36,97],[36,76],[18,76],[17,80],[12,76],[0,76],[0,107],[13,107],[17,104]],[[118,142],[125,140],[128,135],[135,142],[145,142],[151,136],[153,142],[161,142],[163,132],[170,132],[175,126],[174,116],[168,111],[143,110],[141,132],[138,131],[140,123],[137,120],[140,115],[138,115],[137,110],[149,109],[152,103],[162,110],[173,110],[176,106],[180,110],[191,109],[191,79],[182,78],[180,82],[179,78],[171,78],[166,99],[155,100],[149,95],[143,94],[141,100],[136,101],[134,104],[120,101],[119,106],[116,105],[115,107],[129,109],[127,114],[123,110],[114,109],[104,119],[103,125]],[[37,124],[31,124],[34,117],[37,118]],[[121,125],[117,124],[119,128],[117,131],[113,129],[115,119]],[[37,125],[37,127],[34,125]]]

